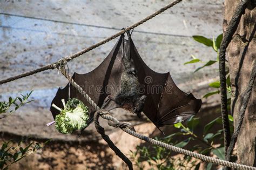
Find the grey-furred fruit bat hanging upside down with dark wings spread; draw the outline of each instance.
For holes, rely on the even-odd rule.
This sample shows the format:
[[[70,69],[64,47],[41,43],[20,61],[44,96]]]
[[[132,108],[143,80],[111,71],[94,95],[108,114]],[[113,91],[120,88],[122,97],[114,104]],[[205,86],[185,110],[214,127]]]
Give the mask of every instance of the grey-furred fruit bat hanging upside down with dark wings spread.
[[[165,125],[183,121],[196,114],[201,100],[192,93],[181,91],[174,83],[170,72],[157,73],[147,66],[139,56],[131,35],[120,36],[116,45],[104,61],[89,73],[74,73],[72,78],[93,101],[104,110],[124,108],[140,117],[143,112],[160,130]],[[95,109],[71,84],[58,89],[52,100],[63,108],[61,99],[77,98],[89,107],[90,120],[93,121]],[[51,105],[52,105],[51,104]],[[50,108],[53,118],[59,114]]]

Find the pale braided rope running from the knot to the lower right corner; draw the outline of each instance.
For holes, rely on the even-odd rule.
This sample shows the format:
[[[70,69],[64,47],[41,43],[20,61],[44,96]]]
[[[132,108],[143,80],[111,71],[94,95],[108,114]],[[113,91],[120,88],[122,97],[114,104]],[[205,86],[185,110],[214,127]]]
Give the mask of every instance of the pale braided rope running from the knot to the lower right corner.
[[[115,124],[120,123],[120,121],[118,121],[116,118],[112,117],[110,114],[103,114],[101,116],[102,116],[102,118],[104,118],[106,120],[113,121]],[[179,148],[179,147],[176,147],[176,146],[173,146],[173,145],[170,145],[170,144],[166,144],[164,142],[161,142],[161,141],[146,137],[145,135],[139,134],[137,132],[131,131],[129,128],[122,128],[122,130],[124,132],[130,134],[130,135],[133,135],[133,137],[136,137],[136,138],[142,139],[144,141],[150,142],[153,145],[164,147],[164,148],[169,149],[171,151],[181,153],[181,154],[184,154],[184,155],[188,155],[190,157],[194,157],[194,158],[200,159],[200,160],[205,161],[205,162],[211,162],[213,164],[228,166],[228,167],[237,168],[237,169],[256,170],[256,167],[237,164],[237,163],[234,163],[234,162],[228,162],[228,161],[225,161],[225,160],[220,160],[220,159],[208,157],[208,156],[203,155],[203,154],[199,154],[199,153],[196,153],[196,152],[191,152],[191,151],[188,151],[188,150],[183,149],[183,148]]]

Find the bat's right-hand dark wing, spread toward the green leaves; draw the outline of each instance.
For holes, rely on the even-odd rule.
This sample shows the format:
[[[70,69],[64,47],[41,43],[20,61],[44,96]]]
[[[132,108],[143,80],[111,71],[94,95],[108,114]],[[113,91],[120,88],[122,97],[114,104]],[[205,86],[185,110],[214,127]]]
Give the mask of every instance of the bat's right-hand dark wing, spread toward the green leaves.
[[[170,72],[157,73],[151,70],[139,56],[132,40],[130,44],[131,57],[138,71],[139,90],[147,97],[143,112],[152,123],[159,128],[196,114],[201,107],[201,100],[194,98],[192,93],[181,91]]]

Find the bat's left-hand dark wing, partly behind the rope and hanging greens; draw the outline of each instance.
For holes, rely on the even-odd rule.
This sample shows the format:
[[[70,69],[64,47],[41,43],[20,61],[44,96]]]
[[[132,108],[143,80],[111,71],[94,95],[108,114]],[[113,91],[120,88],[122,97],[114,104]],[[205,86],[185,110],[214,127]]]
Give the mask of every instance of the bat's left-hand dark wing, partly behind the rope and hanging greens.
[[[120,60],[123,56],[122,48],[123,36],[118,40],[116,45],[113,47],[109,55],[104,59],[104,61],[86,74],[74,73],[72,78],[75,82],[80,85],[83,90],[91,97],[95,103],[101,107],[104,99],[110,95],[114,96],[118,91],[118,85],[121,84],[120,79],[122,76],[123,66]],[[93,113],[95,109],[86,101],[86,99],[80,94],[72,85],[66,85],[63,89],[58,89],[55,98],[53,98],[51,105],[54,103],[60,108],[63,108],[62,99],[67,101],[69,99],[69,89],[70,98],[77,98],[89,107],[90,118],[93,118]],[[59,114],[56,108],[50,108],[53,118]]]

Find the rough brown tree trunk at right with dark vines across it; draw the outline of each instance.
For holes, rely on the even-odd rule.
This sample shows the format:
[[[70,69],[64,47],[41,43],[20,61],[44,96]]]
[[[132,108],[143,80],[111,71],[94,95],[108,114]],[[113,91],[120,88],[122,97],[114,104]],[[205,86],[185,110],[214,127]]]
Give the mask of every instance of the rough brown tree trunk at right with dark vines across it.
[[[224,10],[224,31],[233,16],[234,10],[240,0],[226,0]],[[247,87],[252,71],[253,60],[256,58],[256,8],[248,3],[244,15],[242,15],[231,43],[227,48],[228,66],[232,86],[231,112],[236,124],[242,103],[242,93]],[[245,118],[237,139],[237,154],[240,164],[255,166],[255,137],[256,137],[256,88],[255,84],[247,105]]]

